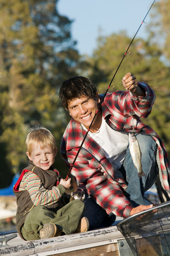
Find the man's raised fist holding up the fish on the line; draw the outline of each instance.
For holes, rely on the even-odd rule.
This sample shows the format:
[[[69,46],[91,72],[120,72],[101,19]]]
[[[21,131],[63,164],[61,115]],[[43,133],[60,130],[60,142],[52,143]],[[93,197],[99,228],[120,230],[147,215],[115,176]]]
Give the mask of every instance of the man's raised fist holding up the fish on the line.
[[[126,73],[121,82],[124,88],[130,91],[132,94],[136,96],[145,96],[145,92],[137,84],[136,77],[131,73]]]

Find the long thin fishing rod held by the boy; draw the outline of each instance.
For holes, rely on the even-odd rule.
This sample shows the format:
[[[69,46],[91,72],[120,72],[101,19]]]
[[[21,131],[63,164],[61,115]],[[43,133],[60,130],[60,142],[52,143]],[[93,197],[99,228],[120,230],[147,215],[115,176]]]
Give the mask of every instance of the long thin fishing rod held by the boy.
[[[117,74],[117,71],[118,71],[118,69],[119,69],[119,67],[120,67],[120,65],[121,65],[121,63],[122,63],[122,61],[124,60],[124,57],[125,57],[126,54],[128,53],[128,49],[130,48],[130,46],[131,46],[131,44],[132,44],[132,42],[133,42],[135,36],[137,35],[137,33],[138,33],[138,31],[139,31],[141,25],[144,23],[144,20],[145,20],[145,18],[147,17],[147,15],[148,15],[148,13],[149,13],[150,9],[152,8],[152,6],[153,6],[153,4],[154,4],[155,1],[156,1],[156,0],[154,0],[153,3],[151,4],[151,6],[150,6],[148,12],[146,13],[144,19],[142,20],[142,23],[141,23],[140,26],[138,27],[138,29],[137,29],[137,31],[136,31],[136,33],[135,33],[133,39],[131,40],[129,46],[127,47],[127,50],[125,51],[125,53],[124,53],[124,55],[123,55],[123,57],[122,57],[122,59],[121,59],[119,65],[118,65],[118,67],[117,67],[117,69],[116,69],[116,71],[115,71],[115,73],[114,73],[114,75],[113,75],[113,77],[112,77],[112,79],[111,79],[111,81],[110,81],[110,83],[109,83],[109,85],[108,85],[108,87],[107,87],[105,93],[104,93],[104,96],[103,96],[102,100],[100,101],[100,103],[99,103],[99,105],[98,105],[98,108],[97,108],[97,110],[96,110],[96,112],[95,112],[95,115],[94,115],[94,117],[93,117],[93,119],[92,119],[92,121],[91,121],[91,123],[90,123],[90,125],[89,125],[89,127],[88,127],[88,130],[86,131],[86,134],[85,134],[85,136],[84,136],[84,138],[83,138],[83,140],[82,140],[82,142],[81,142],[81,145],[79,146],[79,149],[78,149],[78,151],[77,151],[77,153],[76,153],[76,155],[75,155],[75,158],[74,158],[74,160],[73,160],[73,162],[72,162],[72,165],[70,166],[70,168],[69,168],[69,170],[68,170],[68,173],[67,173],[67,175],[66,175],[66,178],[64,179],[65,181],[66,181],[66,180],[68,179],[68,177],[69,177],[69,174],[70,174],[70,172],[71,172],[71,170],[72,170],[72,167],[73,167],[73,165],[74,165],[74,163],[75,163],[75,161],[76,161],[76,159],[77,159],[77,156],[78,156],[78,154],[79,154],[79,151],[81,150],[81,147],[82,147],[82,145],[83,145],[83,143],[84,143],[84,140],[86,139],[86,136],[87,136],[87,134],[88,134],[88,132],[89,132],[89,130],[90,130],[90,128],[91,128],[91,125],[92,125],[92,123],[93,123],[93,121],[94,121],[94,119],[95,119],[95,117],[96,117],[96,115],[97,115],[97,113],[98,113],[98,110],[99,110],[100,107],[101,107],[101,104],[102,104],[102,102],[103,102],[103,100],[104,100],[104,98],[105,98],[105,96],[106,96],[106,94],[107,94],[107,92],[108,92],[108,89],[110,88],[110,86],[111,86],[111,84],[112,84],[112,81],[113,81],[115,75]]]

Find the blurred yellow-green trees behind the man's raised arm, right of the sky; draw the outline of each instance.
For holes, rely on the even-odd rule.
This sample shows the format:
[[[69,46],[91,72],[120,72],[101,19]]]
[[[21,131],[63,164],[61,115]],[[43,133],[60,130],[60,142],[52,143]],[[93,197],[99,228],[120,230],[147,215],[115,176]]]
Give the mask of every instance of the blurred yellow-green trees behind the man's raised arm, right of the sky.
[[[89,58],[88,77],[104,93],[129,45],[131,39],[125,32],[98,37],[98,45]],[[162,62],[163,50],[148,40],[135,39],[111,84],[109,92],[123,90],[122,77],[131,72],[138,81],[147,82],[155,91],[156,100],[149,118],[142,120],[151,126],[162,138],[170,154],[170,106],[169,106],[169,69]]]

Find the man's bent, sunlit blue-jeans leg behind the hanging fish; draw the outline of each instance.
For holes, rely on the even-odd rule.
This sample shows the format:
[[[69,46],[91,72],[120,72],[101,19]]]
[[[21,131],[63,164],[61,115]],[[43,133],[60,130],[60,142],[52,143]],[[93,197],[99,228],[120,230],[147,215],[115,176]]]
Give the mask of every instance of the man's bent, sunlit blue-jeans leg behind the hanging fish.
[[[154,183],[157,176],[156,164],[156,150],[157,144],[148,135],[136,134],[135,135],[141,151],[141,165],[145,173],[144,177],[138,178],[137,169],[135,168],[129,146],[126,150],[126,155],[120,172],[123,174],[127,182],[127,190],[125,192],[126,198],[132,203],[133,206],[140,204],[145,205],[143,199],[144,192],[147,191]]]

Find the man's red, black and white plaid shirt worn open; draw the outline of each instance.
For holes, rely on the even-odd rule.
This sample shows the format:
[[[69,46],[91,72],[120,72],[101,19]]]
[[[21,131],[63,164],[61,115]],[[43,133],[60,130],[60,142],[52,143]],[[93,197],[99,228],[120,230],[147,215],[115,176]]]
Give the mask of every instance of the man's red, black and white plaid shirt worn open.
[[[155,94],[146,83],[139,82],[138,85],[144,89],[144,97],[134,96],[128,91],[108,93],[101,105],[102,116],[107,124],[117,131],[131,132],[133,125],[134,132],[149,135],[156,141],[160,180],[164,189],[169,191],[170,163],[167,152],[159,136],[139,119],[150,114]],[[63,134],[60,148],[68,167],[71,166],[85,133],[81,125],[71,118]],[[127,185],[121,174],[107,160],[101,147],[88,134],[71,174],[79,187],[91,194],[106,211],[117,216],[129,216],[133,206],[123,193]]]

